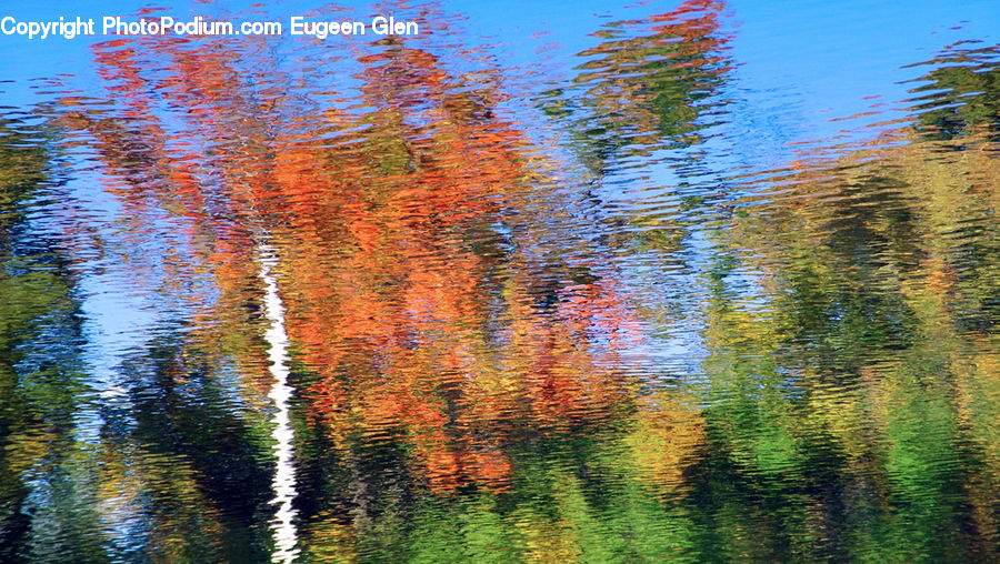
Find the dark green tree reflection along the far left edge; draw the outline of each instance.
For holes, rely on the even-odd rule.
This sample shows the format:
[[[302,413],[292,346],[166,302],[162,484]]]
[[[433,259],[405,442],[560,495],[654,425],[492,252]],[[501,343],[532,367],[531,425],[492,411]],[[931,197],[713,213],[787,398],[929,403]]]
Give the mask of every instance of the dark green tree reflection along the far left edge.
[[[39,219],[59,213],[56,131],[38,122],[0,115],[0,561],[101,562],[79,300]]]

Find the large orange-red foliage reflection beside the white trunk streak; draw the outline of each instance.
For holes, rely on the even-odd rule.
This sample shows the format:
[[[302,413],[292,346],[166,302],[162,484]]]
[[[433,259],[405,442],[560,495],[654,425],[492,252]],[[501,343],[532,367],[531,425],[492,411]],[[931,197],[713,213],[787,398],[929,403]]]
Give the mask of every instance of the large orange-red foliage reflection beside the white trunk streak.
[[[232,42],[116,40],[98,63],[126,110],[73,108],[67,122],[96,140],[137,228],[150,203],[188,220],[221,291],[213,311],[230,312],[197,332],[203,346],[246,339],[254,248],[274,244],[312,373],[308,421],[344,452],[359,437],[406,444],[434,491],[503,489],[511,444],[623,405],[618,355],[637,322],[613,276],[518,249],[530,225],[511,210],[544,194],[489,77],[456,79],[434,54],[386,43],[360,57],[353,105],[289,123],[294,98],[241,81]],[[164,111],[179,130],[153,118]],[[262,390],[261,349],[230,352]]]

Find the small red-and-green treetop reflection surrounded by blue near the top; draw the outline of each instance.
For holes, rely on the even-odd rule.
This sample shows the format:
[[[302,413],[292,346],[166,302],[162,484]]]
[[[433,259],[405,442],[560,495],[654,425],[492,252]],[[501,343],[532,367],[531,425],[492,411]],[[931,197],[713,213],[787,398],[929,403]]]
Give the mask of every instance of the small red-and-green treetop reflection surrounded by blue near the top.
[[[602,41],[578,54],[586,62],[572,84],[548,92],[543,109],[571,123],[594,173],[648,167],[656,151],[701,142],[731,64],[724,7],[687,0],[648,20],[609,23],[594,33]]]

